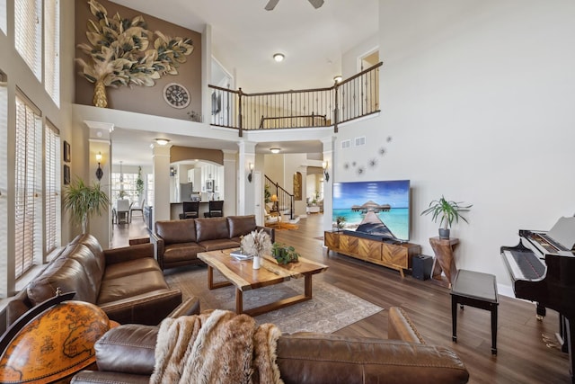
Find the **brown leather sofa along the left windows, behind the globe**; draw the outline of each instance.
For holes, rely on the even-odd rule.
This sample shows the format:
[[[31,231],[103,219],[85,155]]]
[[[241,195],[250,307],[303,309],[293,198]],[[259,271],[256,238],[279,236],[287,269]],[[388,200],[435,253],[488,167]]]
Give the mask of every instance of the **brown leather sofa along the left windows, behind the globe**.
[[[120,324],[157,325],[174,313],[199,313],[199,300],[182,302],[154,258],[154,246],[141,244],[102,250],[92,235],[75,237],[8,303],[7,326],[30,308],[56,295],[75,291],[75,300],[93,303]]]

